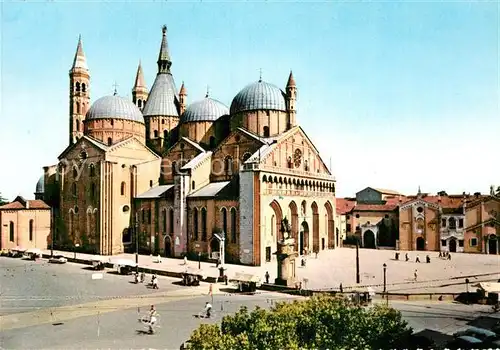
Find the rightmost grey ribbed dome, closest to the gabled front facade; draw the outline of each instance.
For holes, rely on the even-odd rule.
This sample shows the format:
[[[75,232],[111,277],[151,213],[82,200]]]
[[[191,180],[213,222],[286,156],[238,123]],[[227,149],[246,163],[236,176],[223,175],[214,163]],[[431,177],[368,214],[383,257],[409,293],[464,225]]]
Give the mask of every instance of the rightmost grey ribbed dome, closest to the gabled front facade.
[[[259,109],[286,111],[285,94],[276,85],[259,80],[243,88],[231,103],[231,114]]]

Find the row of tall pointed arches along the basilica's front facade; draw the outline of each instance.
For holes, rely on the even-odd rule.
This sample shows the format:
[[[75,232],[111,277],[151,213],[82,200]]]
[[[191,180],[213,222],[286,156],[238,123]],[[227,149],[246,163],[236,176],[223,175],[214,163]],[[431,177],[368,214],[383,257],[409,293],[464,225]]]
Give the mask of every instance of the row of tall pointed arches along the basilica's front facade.
[[[295,240],[295,250],[300,255],[337,246],[334,207],[329,200],[273,200],[264,210],[262,221],[266,232],[265,246],[271,247],[272,251],[275,251],[277,242],[284,238],[281,232],[284,218],[290,223],[290,238]]]

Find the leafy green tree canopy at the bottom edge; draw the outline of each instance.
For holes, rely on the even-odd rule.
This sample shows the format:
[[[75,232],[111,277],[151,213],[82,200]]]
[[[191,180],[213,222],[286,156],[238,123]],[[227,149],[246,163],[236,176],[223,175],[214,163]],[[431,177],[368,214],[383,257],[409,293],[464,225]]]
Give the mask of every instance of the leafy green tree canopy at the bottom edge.
[[[270,310],[242,307],[220,325],[200,325],[189,342],[200,350],[397,349],[411,333],[395,309],[321,296],[277,303]]]

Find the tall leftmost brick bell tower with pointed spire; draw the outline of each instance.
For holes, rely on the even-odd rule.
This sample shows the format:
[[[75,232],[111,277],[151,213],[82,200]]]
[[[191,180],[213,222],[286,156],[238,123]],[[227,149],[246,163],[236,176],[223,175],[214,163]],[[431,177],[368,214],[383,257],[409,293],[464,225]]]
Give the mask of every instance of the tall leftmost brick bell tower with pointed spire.
[[[90,108],[90,73],[83,53],[82,37],[78,38],[75,59],[69,71],[69,144],[83,136],[83,122]]]

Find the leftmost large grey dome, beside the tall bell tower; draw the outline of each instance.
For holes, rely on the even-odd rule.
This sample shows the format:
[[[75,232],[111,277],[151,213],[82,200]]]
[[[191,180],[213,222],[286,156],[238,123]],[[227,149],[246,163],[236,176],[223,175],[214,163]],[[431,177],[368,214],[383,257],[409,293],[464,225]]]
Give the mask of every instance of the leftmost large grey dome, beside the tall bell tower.
[[[94,119],[126,119],[144,124],[139,108],[132,101],[116,95],[101,97],[92,104],[86,120]]]

